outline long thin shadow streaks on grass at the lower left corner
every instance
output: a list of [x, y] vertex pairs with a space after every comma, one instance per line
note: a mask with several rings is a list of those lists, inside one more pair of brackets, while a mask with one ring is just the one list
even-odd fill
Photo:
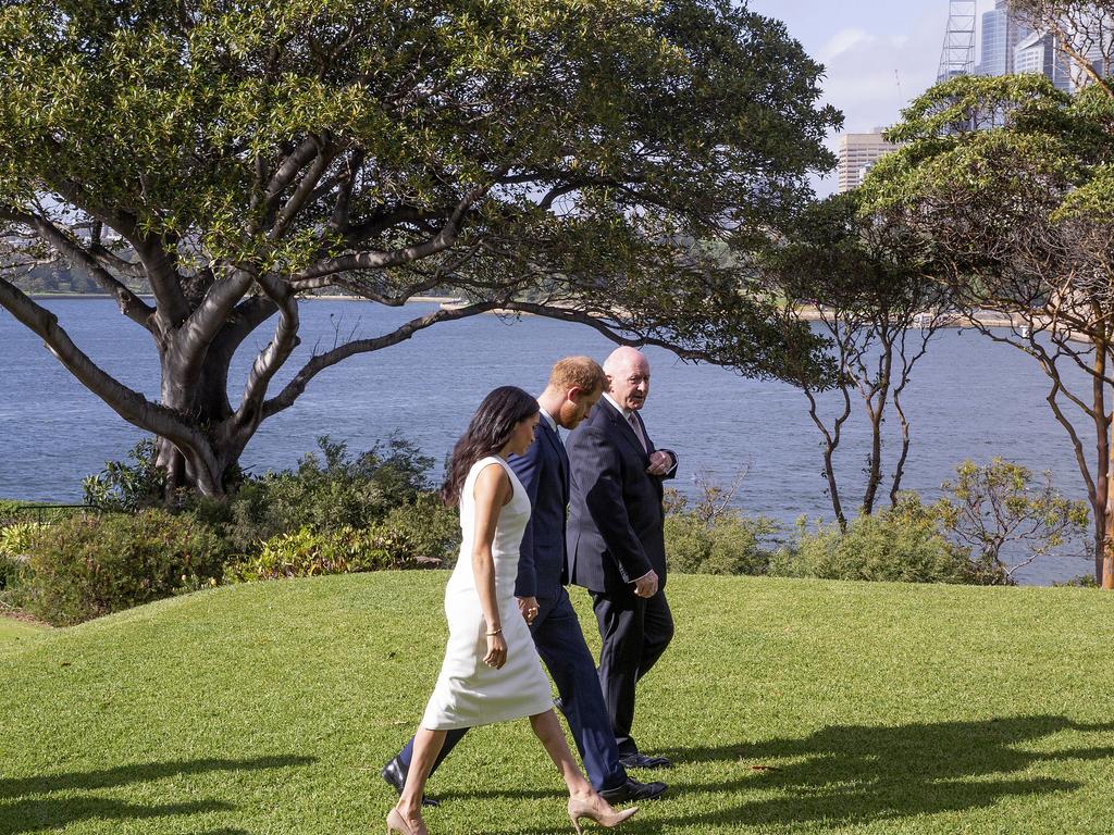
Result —
[[[315, 757], [255, 757], [252, 759], [190, 759], [118, 766], [96, 772], [0, 779], [0, 835], [62, 828], [87, 819], [123, 821], [229, 812], [217, 800], [143, 806], [96, 796], [39, 797], [56, 792], [92, 792], [209, 772], [254, 772], [315, 763]], [[207, 835], [244, 835], [241, 829], [216, 829]]]

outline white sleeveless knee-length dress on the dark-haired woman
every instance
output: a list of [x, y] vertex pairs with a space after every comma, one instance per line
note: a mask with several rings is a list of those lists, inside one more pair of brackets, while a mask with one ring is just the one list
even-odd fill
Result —
[[[483, 664], [487, 655], [487, 622], [480, 608], [472, 573], [472, 540], [476, 499], [472, 490], [480, 471], [501, 466], [514, 489], [509, 503], [499, 512], [491, 553], [495, 558], [495, 589], [507, 641], [507, 664], [495, 669]], [[444, 589], [444, 615], [449, 642], [433, 695], [426, 706], [421, 726], [430, 730], [471, 728], [477, 725], [543, 714], [553, 707], [549, 679], [534, 648], [530, 629], [515, 600], [518, 551], [530, 518], [530, 499], [506, 461], [489, 455], [472, 464], [460, 492], [460, 530], [463, 541], [457, 567]]]

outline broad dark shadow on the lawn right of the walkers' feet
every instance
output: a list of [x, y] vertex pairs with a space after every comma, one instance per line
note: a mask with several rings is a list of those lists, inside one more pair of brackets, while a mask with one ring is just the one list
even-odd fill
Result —
[[[820, 824], [838, 828], [874, 821], [984, 808], [1012, 796], [1074, 792], [1084, 784], [1020, 776], [1046, 762], [1114, 763], [1114, 748], [1026, 750], [1065, 731], [1114, 731], [1111, 725], [1079, 725], [1065, 717], [1022, 716], [987, 721], [912, 724], [895, 727], [832, 726], [803, 738], [654, 752], [678, 766], [707, 764], [706, 782], [671, 780], [671, 794], [746, 792], [753, 798], [684, 816], [633, 821], [629, 832], [670, 825]], [[635, 773], [636, 777], [657, 773]], [[1017, 776], [1012, 776], [1017, 775]], [[665, 779], [670, 779], [668, 773]], [[518, 796], [517, 793], [507, 793]], [[532, 794], [532, 793], [528, 793]], [[667, 814], [668, 796], [661, 800]], [[655, 803], [655, 809], [657, 809]], [[540, 831], [539, 831], [540, 832]]]

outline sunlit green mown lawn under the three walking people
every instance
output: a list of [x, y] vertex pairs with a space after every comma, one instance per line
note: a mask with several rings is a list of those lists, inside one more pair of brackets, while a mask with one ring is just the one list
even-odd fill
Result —
[[[0, 835], [375, 832], [379, 767], [441, 661], [443, 580], [222, 588], [0, 644]], [[670, 595], [636, 733], [677, 766], [624, 832], [1114, 827], [1114, 597], [712, 577]], [[571, 832], [525, 720], [470, 733], [430, 790], [434, 835]]]

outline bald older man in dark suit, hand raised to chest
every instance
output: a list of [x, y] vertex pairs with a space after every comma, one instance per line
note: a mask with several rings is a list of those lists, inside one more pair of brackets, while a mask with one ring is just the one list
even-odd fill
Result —
[[638, 413], [649, 394], [649, 363], [620, 347], [604, 363], [608, 389], [599, 406], [569, 435], [571, 495], [569, 577], [592, 593], [603, 648], [599, 684], [628, 768], [667, 768], [665, 757], [638, 750], [632, 735], [635, 685], [673, 638], [665, 599], [662, 482], [676, 455], [658, 450]]

